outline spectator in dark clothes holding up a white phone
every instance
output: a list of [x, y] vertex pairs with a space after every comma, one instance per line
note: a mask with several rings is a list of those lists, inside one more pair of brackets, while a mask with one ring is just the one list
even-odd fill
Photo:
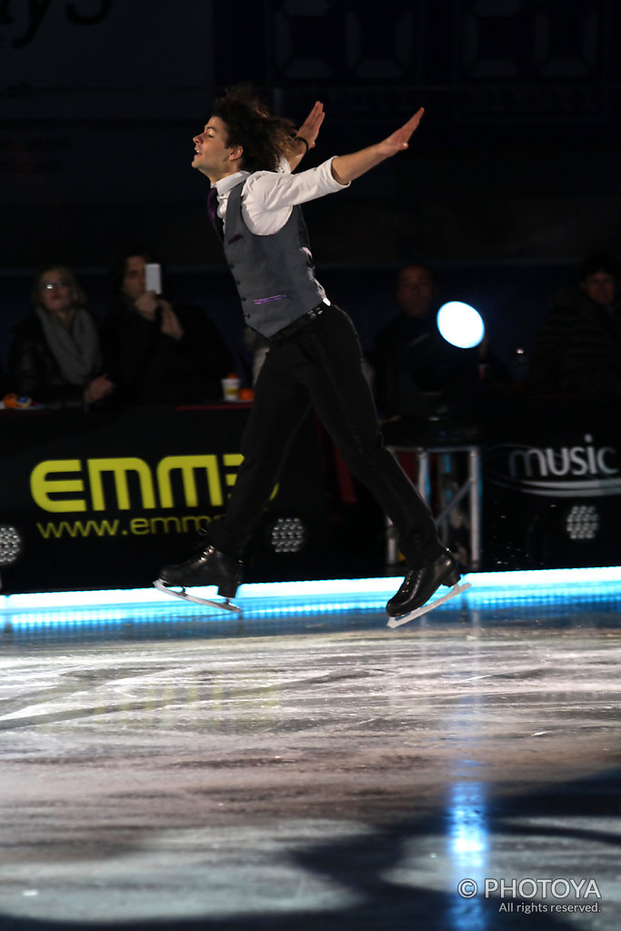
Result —
[[119, 396], [129, 404], [220, 400], [231, 353], [198, 307], [146, 290], [145, 266], [156, 261], [149, 250], [128, 250], [112, 272], [102, 339]]

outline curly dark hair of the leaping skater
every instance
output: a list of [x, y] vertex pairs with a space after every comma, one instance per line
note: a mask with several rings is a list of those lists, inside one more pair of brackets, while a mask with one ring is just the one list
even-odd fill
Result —
[[246, 171], [276, 171], [295, 135], [291, 120], [272, 115], [247, 84], [227, 89], [214, 101], [211, 114], [225, 124], [227, 144], [243, 148], [242, 166]]

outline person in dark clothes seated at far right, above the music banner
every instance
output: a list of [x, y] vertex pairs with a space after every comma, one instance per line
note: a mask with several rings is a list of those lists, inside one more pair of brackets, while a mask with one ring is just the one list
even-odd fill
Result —
[[530, 381], [546, 394], [621, 394], [621, 265], [594, 253], [560, 291], [533, 349]]

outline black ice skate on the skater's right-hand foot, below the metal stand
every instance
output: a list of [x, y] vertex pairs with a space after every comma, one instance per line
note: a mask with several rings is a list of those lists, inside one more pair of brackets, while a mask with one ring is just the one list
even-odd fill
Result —
[[[426, 614], [470, 588], [469, 582], [459, 585], [459, 570], [452, 553], [445, 549], [437, 560], [422, 569], [409, 569], [397, 594], [386, 604], [390, 614], [388, 627], [400, 627], [414, 617]], [[435, 601], [429, 601], [440, 586], [452, 587], [451, 591]]]

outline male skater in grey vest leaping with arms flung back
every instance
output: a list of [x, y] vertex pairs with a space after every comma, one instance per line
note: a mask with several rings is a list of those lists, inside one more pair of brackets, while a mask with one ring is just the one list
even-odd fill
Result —
[[314, 275], [300, 204], [342, 190], [386, 158], [404, 152], [419, 110], [383, 142], [292, 174], [315, 146], [324, 112], [317, 102], [295, 134], [246, 88], [215, 101], [195, 139], [193, 168], [211, 183], [209, 215], [223, 239], [246, 323], [270, 342], [242, 439], [243, 463], [223, 519], [203, 545], [165, 566], [168, 586], [218, 586], [225, 599], [240, 584], [243, 551], [279, 475], [290, 439], [312, 405], [352, 473], [375, 495], [399, 534], [407, 572], [388, 601], [408, 614], [441, 585], [459, 581], [431, 513], [382, 441], [358, 335]]

